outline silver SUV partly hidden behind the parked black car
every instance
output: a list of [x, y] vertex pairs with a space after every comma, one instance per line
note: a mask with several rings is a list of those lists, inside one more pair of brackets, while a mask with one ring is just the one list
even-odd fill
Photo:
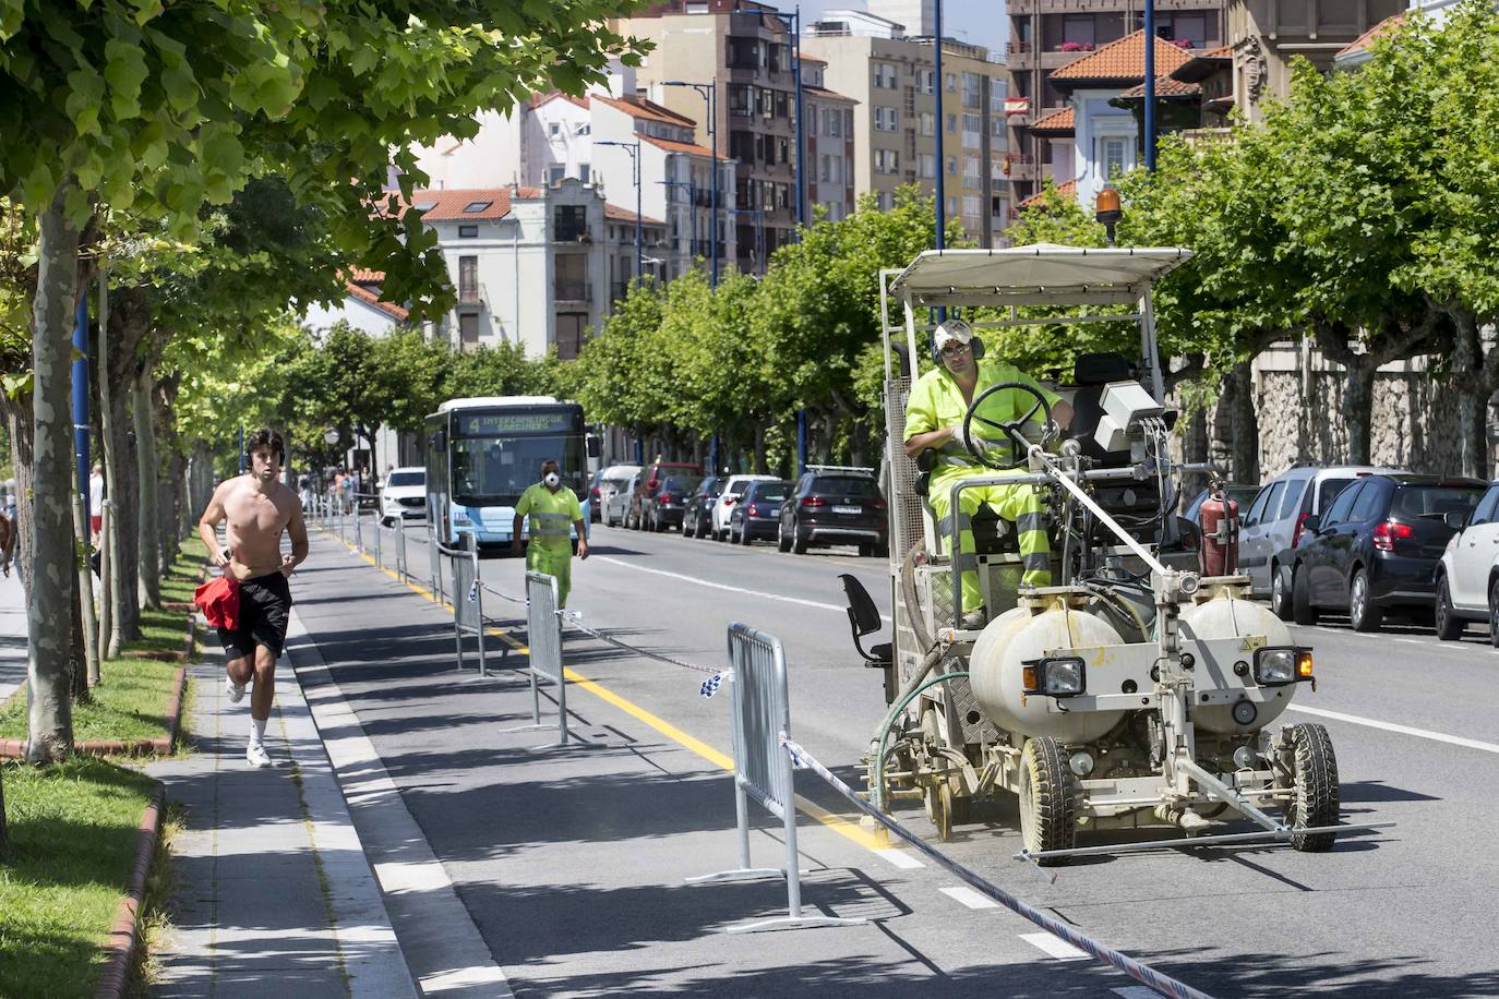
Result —
[[1301, 541], [1307, 517], [1321, 517], [1349, 482], [1384, 472], [1399, 469], [1372, 464], [1288, 469], [1270, 479], [1240, 515], [1240, 572], [1249, 574], [1256, 596], [1270, 596], [1280, 620], [1291, 620], [1291, 553]]

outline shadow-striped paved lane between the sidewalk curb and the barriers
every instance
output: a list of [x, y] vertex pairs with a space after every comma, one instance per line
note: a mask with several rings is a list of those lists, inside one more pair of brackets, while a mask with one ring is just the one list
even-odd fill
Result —
[[[468, 983], [469, 995], [522, 996], [977, 996], [992, 993], [995, 972], [1013, 995], [1132, 986], [1037, 950], [1022, 939], [1034, 927], [1006, 911], [955, 905], [943, 888], [956, 879], [898, 867], [854, 842], [859, 830], [805, 816], [803, 906], [871, 923], [726, 935], [785, 908], [779, 881], [684, 884], [735, 861], [729, 747], [694, 749], [649, 713], [580, 684], [570, 728], [594, 744], [538, 749], [555, 731], [525, 728], [529, 684], [514, 671], [523, 656], [499, 655], [490, 640], [501, 671], [457, 672], [451, 613], [417, 589], [315, 535], [297, 616], [325, 671], [301, 677], [307, 699], [426, 992]], [[576, 653], [628, 659], [570, 640], [565, 658]], [[555, 720], [547, 699], [543, 720]], [[336, 749], [360, 738], [367, 752]], [[409, 836], [378, 828], [391, 812], [409, 815]], [[778, 824], [763, 813], [752, 824], [754, 863], [784, 864]], [[463, 941], [433, 956], [454, 935], [435, 933], [421, 908], [447, 891], [492, 965]]]

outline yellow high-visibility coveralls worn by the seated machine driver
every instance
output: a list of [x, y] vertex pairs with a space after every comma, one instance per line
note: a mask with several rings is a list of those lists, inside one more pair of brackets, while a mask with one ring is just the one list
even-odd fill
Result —
[[[1055, 406], [1061, 398], [1055, 392], [1042, 388], [1036, 379], [1019, 368], [980, 358], [979, 382], [973, 389], [977, 395], [989, 385], [1000, 382], [1024, 382], [1031, 385], [1046, 400], [1048, 406]], [[1036, 404], [1036, 397], [1018, 388], [995, 392], [985, 400], [979, 410], [995, 422], [1012, 422], [1030, 412]], [[929, 433], [941, 427], [962, 425], [968, 412], [968, 403], [962, 398], [962, 389], [946, 367], [938, 367], [916, 380], [911, 395], [905, 401], [905, 439], [920, 433]], [[1039, 413], [1037, 413], [1039, 416]], [[1000, 431], [992, 427], [973, 422], [974, 436], [995, 437]], [[937, 532], [943, 538], [952, 536], [952, 485], [958, 479], [1006, 475], [997, 469], [980, 464], [968, 449], [956, 439], [938, 448], [938, 458], [931, 473], [931, 491], [926, 500], [937, 514]], [[1024, 475], [1024, 469], [1016, 469], [1010, 475]], [[958, 554], [953, 566], [962, 572], [962, 613], [977, 610], [983, 605], [983, 592], [979, 589], [979, 563], [974, 557], [973, 529], [968, 520], [979, 512], [979, 506], [988, 503], [994, 512], [1015, 524], [1019, 536], [1021, 559], [1024, 572], [1021, 583], [1027, 586], [1051, 586], [1051, 542], [1046, 539], [1046, 524], [1042, 520], [1043, 503], [1034, 485], [979, 485], [958, 494]]]

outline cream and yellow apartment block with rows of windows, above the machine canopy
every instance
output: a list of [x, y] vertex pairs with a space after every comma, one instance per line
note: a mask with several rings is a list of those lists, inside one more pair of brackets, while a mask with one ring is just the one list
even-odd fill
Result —
[[872, 192], [889, 207], [901, 184], [935, 192], [940, 169], [947, 217], [961, 219], [979, 246], [994, 246], [1009, 225], [1004, 67], [982, 46], [941, 45], [938, 121], [932, 37], [907, 36], [901, 24], [863, 10], [827, 10], [802, 37], [805, 52], [826, 60], [827, 87], [857, 102], [854, 192]]

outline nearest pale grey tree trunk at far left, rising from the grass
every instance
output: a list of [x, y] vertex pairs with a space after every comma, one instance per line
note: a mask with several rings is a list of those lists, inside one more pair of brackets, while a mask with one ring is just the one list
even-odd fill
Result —
[[31, 460], [34, 533], [27, 589], [30, 693], [27, 759], [51, 762], [73, 749], [67, 696], [72, 616], [58, 614], [72, 601], [73, 532], [69, 509], [72, 419], [69, 388], [73, 309], [78, 301], [78, 228], [67, 217], [64, 183], [37, 219], [36, 298], [31, 306], [31, 413], [36, 422]]

